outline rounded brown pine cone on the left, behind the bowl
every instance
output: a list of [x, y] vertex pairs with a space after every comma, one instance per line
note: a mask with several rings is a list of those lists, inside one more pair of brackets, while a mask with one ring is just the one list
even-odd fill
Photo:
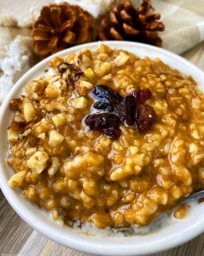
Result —
[[93, 16], [68, 3], [44, 6], [32, 31], [34, 49], [41, 59], [72, 45], [95, 41], [97, 35]]

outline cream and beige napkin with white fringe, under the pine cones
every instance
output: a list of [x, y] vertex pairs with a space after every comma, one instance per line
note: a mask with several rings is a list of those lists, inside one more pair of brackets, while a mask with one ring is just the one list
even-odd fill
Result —
[[[54, 1], [53, 1], [54, 2]], [[62, 0], [55, 0], [56, 3]], [[113, 8], [119, 0], [67, 0], [78, 4], [97, 18]], [[138, 7], [142, 0], [132, 0]], [[47, 4], [50, 1], [47, 0]], [[204, 0], [152, 0], [155, 12], [161, 14], [165, 30], [159, 35], [163, 48], [181, 54], [204, 40]], [[36, 62], [31, 27], [40, 10], [31, 10], [24, 21], [11, 14], [0, 14], [0, 104], [13, 84]], [[20, 24], [20, 25], [19, 25]]]

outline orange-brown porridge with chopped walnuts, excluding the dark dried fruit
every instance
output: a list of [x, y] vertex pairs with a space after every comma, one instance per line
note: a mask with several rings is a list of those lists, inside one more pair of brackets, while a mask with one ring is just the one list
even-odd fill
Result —
[[[70, 226], [78, 218], [98, 228], [148, 225], [204, 186], [204, 95], [192, 77], [104, 44], [50, 65], [55, 75], [29, 82], [27, 96], [10, 103], [10, 186], [54, 220]], [[142, 104], [156, 112], [152, 125], [140, 131], [118, 121], [115, 139], [91, 131], [87, 116], [108, 113], [93, 107], [98, 84], [123, 99], [149, 89]]]

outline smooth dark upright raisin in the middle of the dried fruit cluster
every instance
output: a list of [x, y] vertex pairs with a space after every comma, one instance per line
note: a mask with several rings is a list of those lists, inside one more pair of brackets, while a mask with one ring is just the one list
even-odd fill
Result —
[[117, 108], [117, 112], [122, 122], [126, 121], [128, 125], [133, 125], [135, 123], [136, 114], [136, 104], [134, 96], [126, 96]]

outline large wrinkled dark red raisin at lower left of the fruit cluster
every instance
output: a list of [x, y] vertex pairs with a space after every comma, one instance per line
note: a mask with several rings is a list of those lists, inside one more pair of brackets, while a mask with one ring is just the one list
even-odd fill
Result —
[[106, 134], [112, 140], [118, 139], [121, 134], [121, 131], [118, 129], [120, 119], [114, 114], [92, 114], [87, 116], [84, 122], [92, 131]]

